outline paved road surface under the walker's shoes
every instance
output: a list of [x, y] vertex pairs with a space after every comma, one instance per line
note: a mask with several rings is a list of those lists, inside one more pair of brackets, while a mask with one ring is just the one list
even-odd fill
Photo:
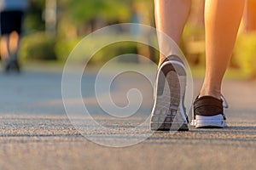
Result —
[[[45, 70], [49, 70], [45, 68]], [[127, 78], [129, 77], [129, 78]], [[113, 86], [113, 101], [127, 104], [119, 94], [136, 85], [145, 98], [135, 116], [116, 118], [104, 114], [93, 98], [94, 72], [84, 75], [82, 94], [92, 116], [104, 132], [86, 124], [90, 140], [122, 144], [143, 140], [124, 148], [95, 144], [81, 135], [67, 118], [61, 100], [61, 71], [29, 69], [20, 76], [0, 74], [0, 169], [255, 169], [256, 83], [226, 80], [224, 94], [230, 101], [229, 127], [190, 128], [185, 133], [154, 133], [143, 126], [125, 133], [150, 114], [152, 88], [147, 80], [120, 77]], [[136, 82], [136, 83], [135, 83]], [[195, 94], [201, 80], [196, 79]], [[78, 100], [73, 99], [73, 105]], [[83, 120], [77, 114], [76, 120]], [[88, 121], [86, 118], [84, 122]], [[82, 121], [83, 122], [83, 121]], [[84, 124], [83, 124], [84, 125]]]

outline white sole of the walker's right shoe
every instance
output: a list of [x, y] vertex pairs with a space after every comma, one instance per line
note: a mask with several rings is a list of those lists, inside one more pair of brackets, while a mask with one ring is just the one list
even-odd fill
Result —
[[195, 116], [196, 128], [224, 128], [226, 121], [222, 115], [217, 116]]

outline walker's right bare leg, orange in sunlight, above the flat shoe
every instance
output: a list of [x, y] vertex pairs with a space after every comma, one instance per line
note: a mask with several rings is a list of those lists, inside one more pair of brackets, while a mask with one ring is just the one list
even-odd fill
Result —
[[236, 42], [245, 0], [206, 0], [207, 70], [201, 96], [220, 99], [224, 73]]

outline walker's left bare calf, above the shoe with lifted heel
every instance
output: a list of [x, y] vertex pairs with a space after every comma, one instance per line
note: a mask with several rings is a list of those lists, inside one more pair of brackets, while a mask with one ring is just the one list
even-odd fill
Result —
[[[191, 0], [154, 0], [154, 12], [156, 28], [163, 31], [173, 41], [179, 45], [184, 25], [189, 16]], [[159, 37], [160, 49], [162, 46], [170, 44], [161, 44]], [[175, 53], [175, 52], [173, 52]], [[160, 54], [160, 63], [165, 56]]]

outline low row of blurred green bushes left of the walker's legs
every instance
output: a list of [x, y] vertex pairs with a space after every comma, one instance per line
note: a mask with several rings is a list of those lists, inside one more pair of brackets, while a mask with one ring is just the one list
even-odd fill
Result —
[[[22, 39], [20, 47], [20, 57], [30, 60], [49, 60], [58, 59], [66, 61], [72, 50], [79, 44], [81, 38], [73, 40], [59, 39], [55, 40], [47, 37], [44, 32], [34, 33]], [[95, 38], [90, 44], [82, 49], [81, 55], [76, 56], [74, 60], [77, 62], [88, 61], [89, 56], [86, 51], [98, 43], [102, 42], [102, 38]], [[136, 42], [116, 42], [96, 51], [96, 54], [90, 59], [90, 65], [102, 65], [109, 59], [113, 59], [121, 54], [137, 54]], [[137, 62], [137, 58], [125, 59], [126, 62]]]

